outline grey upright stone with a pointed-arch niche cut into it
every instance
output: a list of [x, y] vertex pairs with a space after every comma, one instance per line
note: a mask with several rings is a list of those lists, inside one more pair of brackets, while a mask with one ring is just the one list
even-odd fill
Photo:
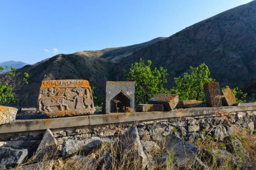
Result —
[[104, 114], [134, 110], [135, 81], [107, 81], [104, 97]]

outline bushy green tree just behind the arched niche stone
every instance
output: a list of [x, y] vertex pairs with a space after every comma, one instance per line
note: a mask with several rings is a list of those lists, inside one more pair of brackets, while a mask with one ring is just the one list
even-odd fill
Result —
[[168, 77], [167, 69], [160, 67], [151, 69], [152, 61], [146, 63], [140, 58], [139, 62], [134, 62], [128, 73], [125, 74], [127, 81], [135, 81], [135, 104], [147, 103], [150, 97], [159, 93], [169, 93], [164, 88]]

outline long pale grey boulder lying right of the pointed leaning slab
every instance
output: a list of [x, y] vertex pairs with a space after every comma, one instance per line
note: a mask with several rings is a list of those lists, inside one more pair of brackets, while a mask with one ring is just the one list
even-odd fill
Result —
[[88, 155], [102, 145], [102, 140], [99, 137], [92, 137], [86, 140], [65, 140], [62, 144], [61, 156], [67, 159], [76, 153]]

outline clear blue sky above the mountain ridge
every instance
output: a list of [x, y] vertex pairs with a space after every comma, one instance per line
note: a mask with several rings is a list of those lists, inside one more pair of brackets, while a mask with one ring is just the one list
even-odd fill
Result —
[[251, 0], [0, 0], [0, 62], [171, 36]]

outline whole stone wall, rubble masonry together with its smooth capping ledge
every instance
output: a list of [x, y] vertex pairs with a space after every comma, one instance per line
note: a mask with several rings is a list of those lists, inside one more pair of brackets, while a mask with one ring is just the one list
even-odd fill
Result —
[[[254, 107], [254, 106], [253, 106]], [[228, 112], [232, 111], [232, 112]], [[214, 136], [216, 140], [222, 141], [225, 136], [230, 136], [234, 126], [239, 126], [241, 128], [247, 128], [251, 133], [256, 127], [256, 109], [247, 106], [246, 108], [239, 107], [226, 107], [222, 109], [216, 108], [193, 108], [187, 110], [179, 110], [172, 112], [149, 112], [149, 113], [134, 113], [134, 114], [114, 114], [114, 115], [95, 115], [94, 125], [89, 124], [92, 120], [88, 120], [87, 126], [77, 122], [80, 126], [76, 126], [75, 121], [79, 117], [66, 118], [70, 126], [65, 127], [67, 122], [62, 121], [63, 128], [59, 128], [54, 122], [59, 119], [65, 118], [55, 118], [44, 121], [45, 128], [50, 128], [55, 136], [59, 147], [64, 140], [75, 139], [84, 140], [87, 138], [92, 138], [98, 136], [104, 140], [113, 140], [120, 134], [123, 134], [127, 128], [130, 126], [137, 126], [139, 132], [139, 138], [143, 140], [152, 140], [154, 142], [160, 142], [164, 140], [165, 136], [168, 134], [174, 134], [180, 138], [184, 138], [187, 141], [195, 141], [197, 138], [203, 138], [205, 134], [210, 134]], [[191, 113], [191, 114], [189, 114]], [[137, 120], [138, 115], [143, 115], [144, 120]], [[151, 116], [151, 119], [146, 120], [146, 115]], [[154, 120], [152, 115], [156, 115], [157, 118]], [[163, 116], [165, 115], [165, 116]], [[123, 117], [122, 117], [123, 116]], [[101, 120], [100, 120], [101, 118]], [[123, 118], [123, 119], [122, 119]], [[72, 119], [74, 119], [72, 121]], [[127, 121], [124, 121], [127, 120]], [[68, 121], [69, 120], [69, 121]], [[97, 122], [97, 121], [98, 122]], [[102, 121], [105, 124], [102, 124]], [[115, 121], [114, 121], [115, 120]], [[132, 121], [133, 120], [133, 121]], [[6, 125], [6, 127], [0, 127], [0, 146], [10, 146], [12, 148], [28, 148], [29, 155], [32, 155], [36, 150], [40, 140], [45, 132], [44, 129], [39, 129], [41, 123], [39, 120], [20, 120], [13, 122], [13, 128], [11, 124]], [[61, 121], [61, 120], [59, 120]], [[81, 122], [87, 122], [86, 118], [82, 119]], [[26, 122], [26, 129], [23, 132], [13, 132], [11, 130], [18, 129], [22, 131], [21, 122]], [[29, 123], [30, 122], [30, 123]], [[33, 122], [33, 124], [31, 123]], [[34, 124], [34, 122], [36, 122]], [[116, 122], [116, 123], [110, 123]], [[29, 125], [30, 124], [30, 125]], [[50, 125], [52, 128], [50, 127]], [[53, 124], [55, 126], [53, 126]], [[87, 123], [86, 123], [87, 124]], [[16, 127], [17, 126], [17, 127]], [[32, 130], [34, 128], [34, 130]], [[5, 130], [5, 132], [3, 132]]]

